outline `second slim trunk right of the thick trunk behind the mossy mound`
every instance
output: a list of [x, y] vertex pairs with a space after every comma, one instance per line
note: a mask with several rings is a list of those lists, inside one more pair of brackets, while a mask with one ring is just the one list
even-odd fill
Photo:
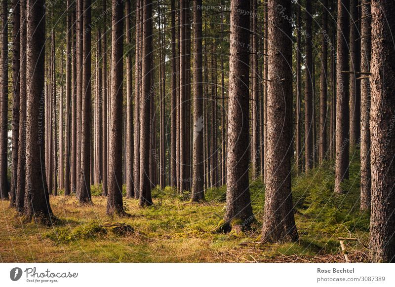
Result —
[[142, 23], [140, 15], [143, 13], [142, 1], [136, 1], [136, 55], [134, 81], [134, 198], [140, 197], [140, 86], [141, 86], [141, 54], [140, 33]]

